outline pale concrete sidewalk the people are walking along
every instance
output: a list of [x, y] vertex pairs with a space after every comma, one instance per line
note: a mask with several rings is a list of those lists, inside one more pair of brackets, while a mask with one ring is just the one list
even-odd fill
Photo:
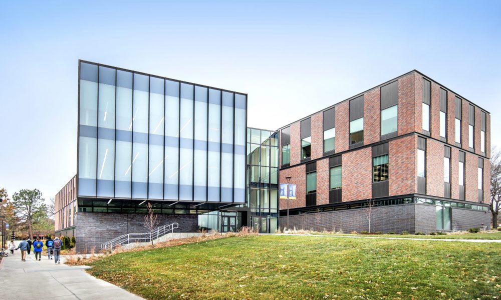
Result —
[[[9, 252], [10, 253], [10, 252]], [[87, 266], [55, 264], [47, 256], [35, 260], [32, 252], [21, 261], [21, 252], [2, 259], [0, 299], [143, 299], [125, 289], [89, 275]]]

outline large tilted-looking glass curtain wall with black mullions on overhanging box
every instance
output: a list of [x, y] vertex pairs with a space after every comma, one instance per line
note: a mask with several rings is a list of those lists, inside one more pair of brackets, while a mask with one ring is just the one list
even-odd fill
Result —
[[79, 68], [78, 195], [245, 203], [244, 94]]

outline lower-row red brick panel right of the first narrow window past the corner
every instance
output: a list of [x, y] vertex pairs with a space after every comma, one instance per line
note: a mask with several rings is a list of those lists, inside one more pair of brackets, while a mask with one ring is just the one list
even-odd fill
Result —
[[443, 197], [443, 144], [426, 142], [426, 194]]

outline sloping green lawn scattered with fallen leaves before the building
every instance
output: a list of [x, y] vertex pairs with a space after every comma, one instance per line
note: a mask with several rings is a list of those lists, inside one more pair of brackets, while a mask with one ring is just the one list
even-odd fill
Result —
[[111, 255], [88, 271], [148, 299], [492, 298], [501, 245], [261, 235]]

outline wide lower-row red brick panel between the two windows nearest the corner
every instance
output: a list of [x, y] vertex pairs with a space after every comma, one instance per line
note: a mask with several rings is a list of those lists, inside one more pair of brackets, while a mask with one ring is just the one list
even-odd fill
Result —
[[368, 199], [372, 196], [372, 149], [347, 152], [341, 158], [342, 200]]

